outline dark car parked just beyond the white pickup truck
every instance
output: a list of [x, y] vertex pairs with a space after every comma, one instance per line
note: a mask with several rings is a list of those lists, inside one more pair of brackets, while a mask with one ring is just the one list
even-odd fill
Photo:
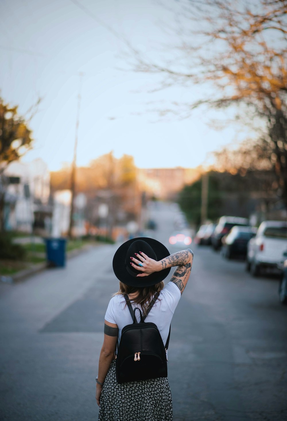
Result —
[[251, 226], [233, 226], [229, 234], [222, 238], [222, 256], [228, 259], [235, 256], [245, 257], [248, 241], [255, 236], [256, 232], [257, 229]]

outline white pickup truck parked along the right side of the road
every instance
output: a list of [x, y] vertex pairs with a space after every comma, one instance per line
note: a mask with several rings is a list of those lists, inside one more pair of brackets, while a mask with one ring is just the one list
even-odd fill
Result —
[[264, 221], [248, 242], [246, 269], [253, 276], [258, 276], [264, 267], [277, 269], [286, 259], [286, 253], [287, 222]]

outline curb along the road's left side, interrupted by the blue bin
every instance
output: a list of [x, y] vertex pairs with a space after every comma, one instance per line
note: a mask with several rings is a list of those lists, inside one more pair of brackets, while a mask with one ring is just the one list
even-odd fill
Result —
[[[85, 251], [90, 250], [91, 248], [99, 247], [100, 245], [103, 246], [105, 244], [87, 244], [87, 245], [84, 245], [82, 248], [76, 248], [74, 250], [71, 250], [67, 252], [66, 259], [69, 260], [73, 257], [78, 256], [79, 254], [84, 253]], [[8, 283], [8, 284], [20, 282], [20, 281], [25, 280], [28, 277], [33, 276], [36, 273], [42, 272], [45, 269], [48, 269], [47, 262], [37, 263], [27, 269], [23, 269], [17, 272], [16, 274], [12, 276], [5, 276], [5, 277], [3, 276], [2, 281], [3, 283]], [[1, 280], [1, 277], [0, 277], [0, 280]]]

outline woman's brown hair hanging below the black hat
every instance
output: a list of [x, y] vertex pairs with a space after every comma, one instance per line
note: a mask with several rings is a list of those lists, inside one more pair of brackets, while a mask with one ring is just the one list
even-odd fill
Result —
[[135, 304], [140, 304], [140, 306], [142, 307], [143, 314], [145, 314], [153, 296], [155, 295], [155, 293], [161, 292], [163, 287], [164, 287], [163, 281], [158, 282], [158, 284], [151, 285], [149, 287], [144, 287], [144, 288], [131, 287], [120, 281], [120, 289], [118, 290], [118, 292], [113, 294], [113, 297], [116, 295], [133, 294], [137, 292], [138, 293], [137, 297], [133, 298], [132, 301]]

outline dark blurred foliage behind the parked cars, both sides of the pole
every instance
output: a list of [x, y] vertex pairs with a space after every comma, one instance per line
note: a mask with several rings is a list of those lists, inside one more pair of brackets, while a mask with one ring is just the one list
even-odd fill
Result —
[[[270, 168], [245, 169], [233, 173], [210, 171], [207, 175], [207, 218], [214, 222], [222, 215], [249, 217], [262, 205], [266, 211], [272, 211], [278, 200], [274, 186], [276, 181]], [[200, 224], [201, 179], [182, 189], [179, 205], [191, 223]]]

